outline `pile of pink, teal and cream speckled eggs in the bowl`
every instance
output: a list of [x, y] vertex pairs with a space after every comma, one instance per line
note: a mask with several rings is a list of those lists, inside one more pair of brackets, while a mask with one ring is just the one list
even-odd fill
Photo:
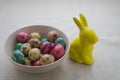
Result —
[[28, 66], [46, 65], [60, 59], [65, 54], [65, 47], [66, 43], [57, 31], [50, 31], [44, 37], [37, 32], [19, 32], [12, 59]]

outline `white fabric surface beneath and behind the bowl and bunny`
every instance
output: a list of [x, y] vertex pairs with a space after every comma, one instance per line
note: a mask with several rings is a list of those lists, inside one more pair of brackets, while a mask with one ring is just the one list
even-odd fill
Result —
[[[63, 30], [71, 41], [79, 31], [72, 21], [82, 12], [99, 36], [93, 65], [66, 57], [63, 64], [44, 74], [18, 71], [4, 51], [7, 37], [33, 24]], [[0, 0], [0, 80], [120, 80], [120, 0]]]

